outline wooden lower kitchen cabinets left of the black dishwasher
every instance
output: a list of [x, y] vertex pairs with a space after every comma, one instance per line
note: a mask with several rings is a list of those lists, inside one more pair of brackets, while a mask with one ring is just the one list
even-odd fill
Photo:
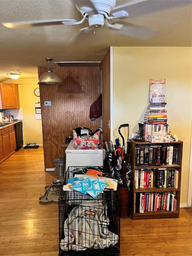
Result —
[[1, 129], [0, 138], [0, 162], [4, 161], [10, 155], [15, 152], [16, 149], [16, 137], [15, 128], [13, 125]]

